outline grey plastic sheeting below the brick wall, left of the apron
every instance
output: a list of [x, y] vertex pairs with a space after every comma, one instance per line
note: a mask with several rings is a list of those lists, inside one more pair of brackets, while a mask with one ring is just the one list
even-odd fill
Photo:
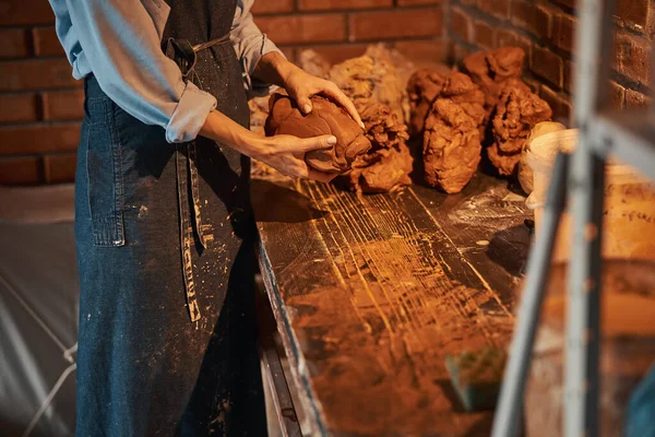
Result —
[[0, 191], [3, 436], [74, 434], [80, 287], [71, 200], [72, 187]]

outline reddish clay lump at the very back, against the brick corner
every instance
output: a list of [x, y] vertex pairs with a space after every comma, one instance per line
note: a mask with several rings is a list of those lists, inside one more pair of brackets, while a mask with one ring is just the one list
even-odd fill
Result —
[[519, 47], [502, 47], [478, 51], [464, 58], [464, 70], [471, 75], [483, 93], [485, 107], [491, 111], [504, 83], [523, 75], [525, 51]]

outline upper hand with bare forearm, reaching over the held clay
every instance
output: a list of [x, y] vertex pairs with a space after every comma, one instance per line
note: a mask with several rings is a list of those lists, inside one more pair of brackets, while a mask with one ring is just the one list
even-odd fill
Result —
[[365, 129], [355, 105], [334, 82], [309, 74], [275, 51], [266, 54], [260, 59], [253, 75], [285, 88], [303, 114], [311, 113], [312, 96], [321, 94], [330, 97], [346, 109], [350, 117], [361, 126], [361, 129]]

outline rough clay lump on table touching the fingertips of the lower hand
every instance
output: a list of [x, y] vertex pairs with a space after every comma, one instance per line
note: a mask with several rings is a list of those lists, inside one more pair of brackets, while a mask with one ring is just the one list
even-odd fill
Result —
[[389, 106], [372, 103], [359, 113], [371, 149], [355, 160], [353, 172], [337, 178], [337, 185], [357, 192], [388, 192], [412, 184], [413, 167], [407, 127]]

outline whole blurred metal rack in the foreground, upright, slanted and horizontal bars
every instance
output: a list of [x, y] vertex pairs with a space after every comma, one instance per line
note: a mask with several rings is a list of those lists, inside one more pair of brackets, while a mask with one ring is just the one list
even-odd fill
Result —
[[[614, 0], [579, 0], [574, 116], [579, 144], [556, 160], [544, 227], [528, 261], [517, 328], [493, 423], [493, 437], [517, 434], [555, 236], [567, 196], [573, 215], [569, 263], [563, 435], [597, 436], [600, 353], [600, 236], [605, 160], [609, 153], [655, 179], [655, 115], [607, 107]], [[655, 62], [653, 62], [655, 63]], [[570, 161], [570, 163], [569, 163]]]

